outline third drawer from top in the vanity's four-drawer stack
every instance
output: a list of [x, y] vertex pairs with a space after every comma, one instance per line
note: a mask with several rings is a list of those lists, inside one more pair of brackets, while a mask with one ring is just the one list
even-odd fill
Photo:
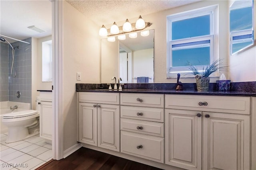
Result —
[[123, 118], [120, 121], [121, 130], [164, 137], [164, 123]]

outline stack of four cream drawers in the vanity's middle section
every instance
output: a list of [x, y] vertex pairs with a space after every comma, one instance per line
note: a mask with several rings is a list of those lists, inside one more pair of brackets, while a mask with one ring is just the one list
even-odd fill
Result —
[[164, 95], [120, 94], [120, 152], [164, 163]]

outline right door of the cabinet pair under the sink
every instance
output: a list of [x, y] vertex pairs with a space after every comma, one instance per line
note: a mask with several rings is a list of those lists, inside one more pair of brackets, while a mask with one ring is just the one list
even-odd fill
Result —
[[98, 147], [120, 152], [120, 106], [98, 104]]

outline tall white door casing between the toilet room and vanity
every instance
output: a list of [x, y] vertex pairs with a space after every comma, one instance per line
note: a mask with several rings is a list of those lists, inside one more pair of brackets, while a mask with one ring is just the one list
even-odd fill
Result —
[[62, 97], [62, 1], [52, 0], [52, 107], [54, 110], [53, 136], [52, 136], [52, 158], [60, 160], [63, 158], [63, 97]]

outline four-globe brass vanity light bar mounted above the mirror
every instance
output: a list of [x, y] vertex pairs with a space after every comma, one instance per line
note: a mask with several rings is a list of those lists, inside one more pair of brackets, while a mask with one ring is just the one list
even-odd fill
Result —
[[[150, 27], [152, 23], [145, 22], [141, 16], [139, 16], [139, 19], [136, 21], [136, 23], [130, 23], [128, 19], [124, 22], [123, 26], [118, 27], [116, 25], [116, 22], [113, 23], [113, 25], [110, 27], [110, 29], [106, 29], [104, 25], [100, 28], [99, 35], [102, 37], [110, 37], [115, 35], [122, 35], [125, 33], [132, 33], [135, 31], [142, 31], [146, 27]], [[106, 34], [107, 32], [107, 34]]]

